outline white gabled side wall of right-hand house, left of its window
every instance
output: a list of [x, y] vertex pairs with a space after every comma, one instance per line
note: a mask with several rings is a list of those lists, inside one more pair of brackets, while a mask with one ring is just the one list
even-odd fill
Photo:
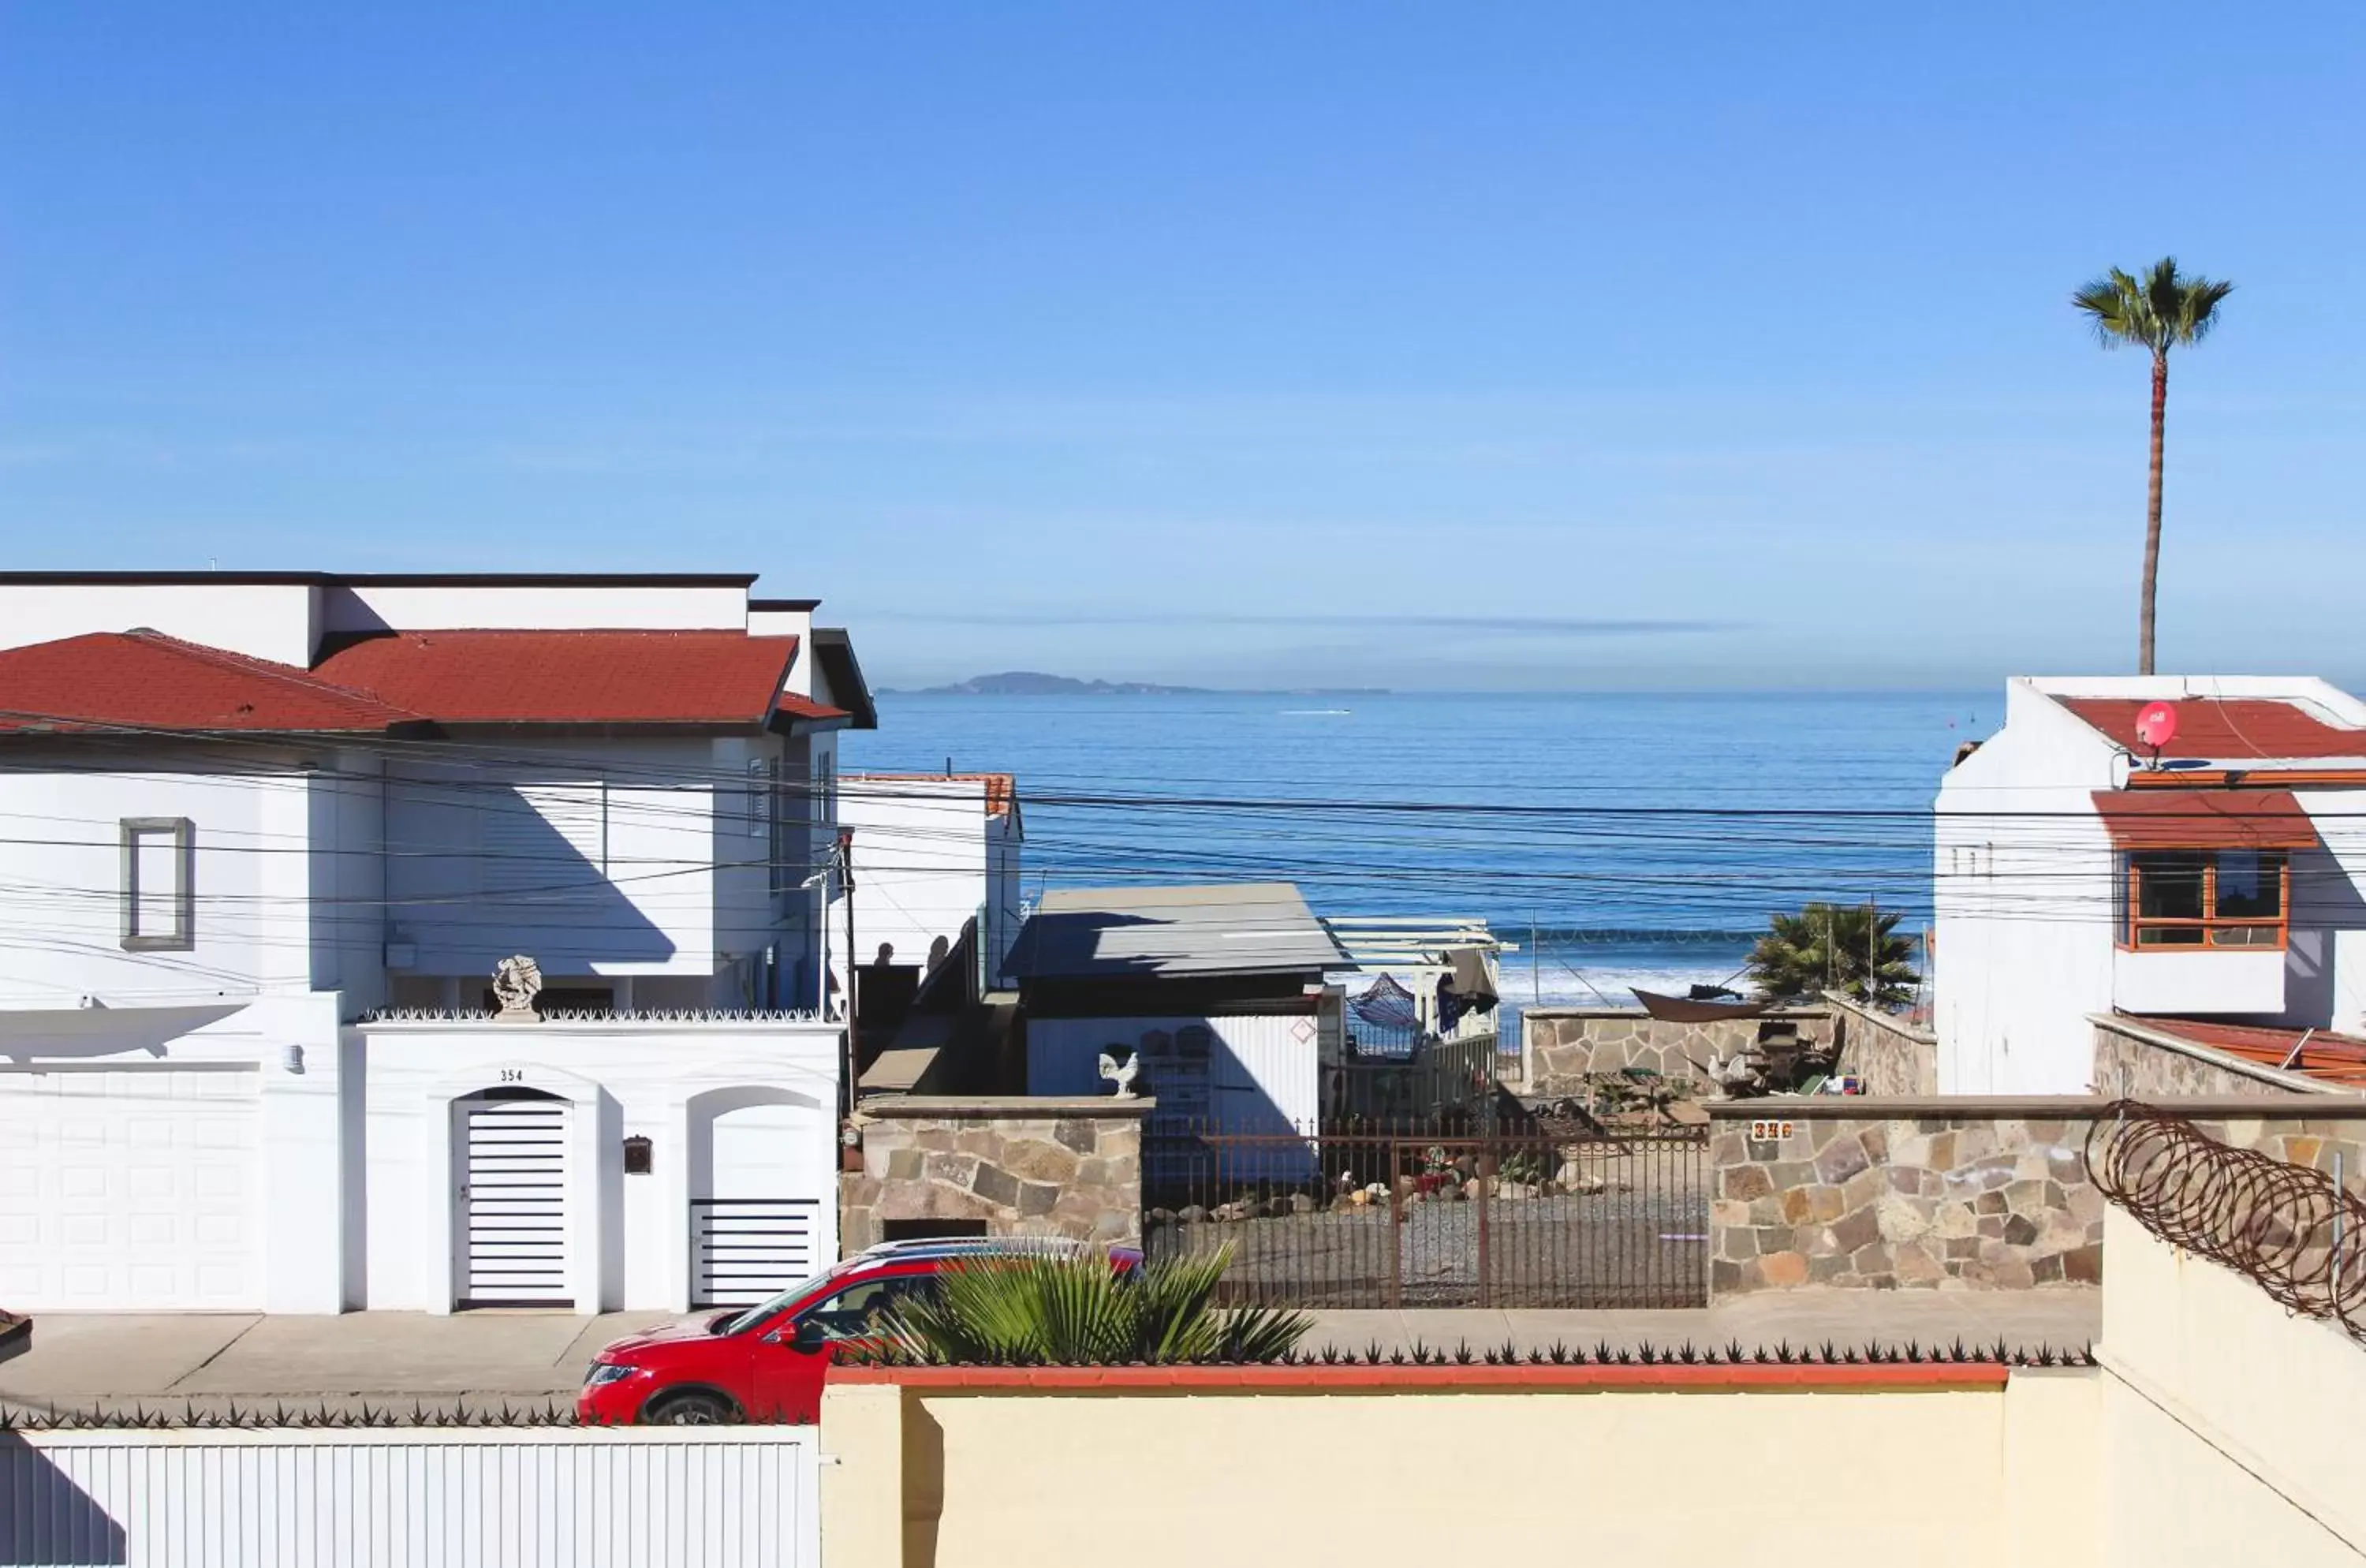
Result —
[[2075, 1095], [2110, 1010], [2113, 851], [2094, 790], [2115, 752], [2035, 691], [1935, 804], [1933, 1029], [1945, 1095]]

